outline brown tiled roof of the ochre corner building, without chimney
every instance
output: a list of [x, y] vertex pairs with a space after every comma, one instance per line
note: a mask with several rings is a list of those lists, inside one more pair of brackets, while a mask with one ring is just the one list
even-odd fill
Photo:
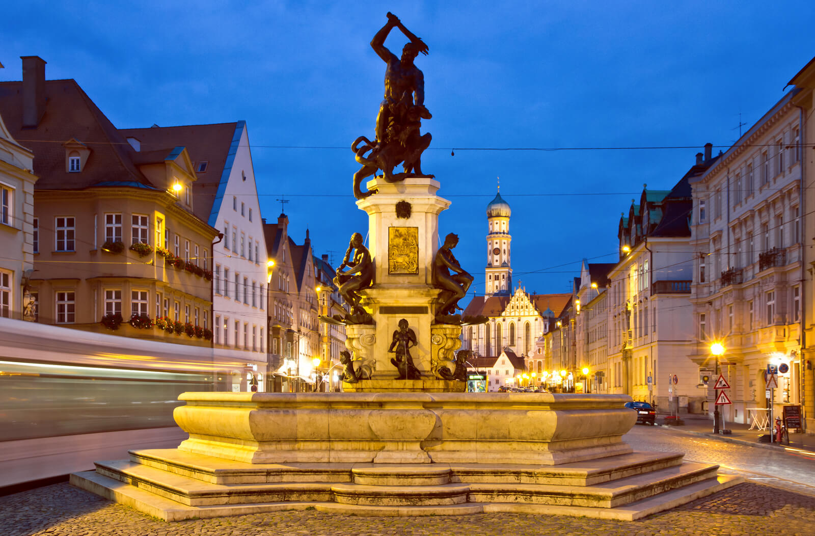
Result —
[[[34, 128], [22, 128], [22, 90], [22, 81], [0, 82], [0, 115], [17, 142], [34, 153], [36, 190], [76, 190], [120, 182], [153, 186], [136, 166], [133, 147], [76, 81], [45, 81], [46, 108]], [[64, 143], [72, 139], [90, 150], [81, 173], [66, 169]]]

